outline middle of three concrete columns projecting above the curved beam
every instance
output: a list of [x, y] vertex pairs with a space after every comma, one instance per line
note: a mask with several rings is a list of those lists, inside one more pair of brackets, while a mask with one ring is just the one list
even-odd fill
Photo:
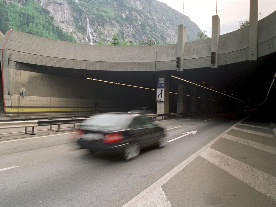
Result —
[[[210, 66], [211, 68], [218, 67], [218, 40], [219, 36], [221, 35], [221, 27], [220, 27], [220, 20], [218, 15], [212, 16], [212, 42], [211, 42], [211, 52], [216, 53], [216, 63], [213, 65], [211, 64], [210, 58]], [[211, 56], [211, 54], [210, 54]]]

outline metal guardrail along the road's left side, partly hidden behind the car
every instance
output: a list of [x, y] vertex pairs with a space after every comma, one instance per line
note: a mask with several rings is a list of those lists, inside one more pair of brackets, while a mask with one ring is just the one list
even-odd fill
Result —
[[[183, 115], [184, 113], [170, 113], [170, 114], [140, 114], [140, 116], [147, 116], [147, 117], [160, 117], [162, 119], [167, 116], [179, 116]], [[49, 131], [52, 130], [53, 125], [57, 125], [57, 132], [60, 132], [60, 125], [61, 124], [74, 124], [73, 128], [76, 127], [76, 123], [81, 123], [84, 120], [90, 117], [85, 118], [66, 118], [66, 119], [45, 119], [45, 120], [24, 120], [24, 121], [5, 121], [0, 122], [0, 129], [9, 129], [9, 128], [23, 128], [25, 127], [24, 134], [28, 134], [28, 127], [32, 127], [31, 135], [34, 135], [34, 127], [38, 126], [50, 126]]]

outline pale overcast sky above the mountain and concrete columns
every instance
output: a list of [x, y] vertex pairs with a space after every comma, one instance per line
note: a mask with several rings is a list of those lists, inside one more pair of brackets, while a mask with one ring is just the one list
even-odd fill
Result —
[[[208, 37], [212, 37], [212, 16], [218, 15], [221, 34], [237, 30], [239, 21], [249, 20], [250, 0], [158, 0], [188, 16]], [[276, 10], [276, 0], [258, 0], [258, 20]], [[185, 25], [185, 24], [184, 24]]]

